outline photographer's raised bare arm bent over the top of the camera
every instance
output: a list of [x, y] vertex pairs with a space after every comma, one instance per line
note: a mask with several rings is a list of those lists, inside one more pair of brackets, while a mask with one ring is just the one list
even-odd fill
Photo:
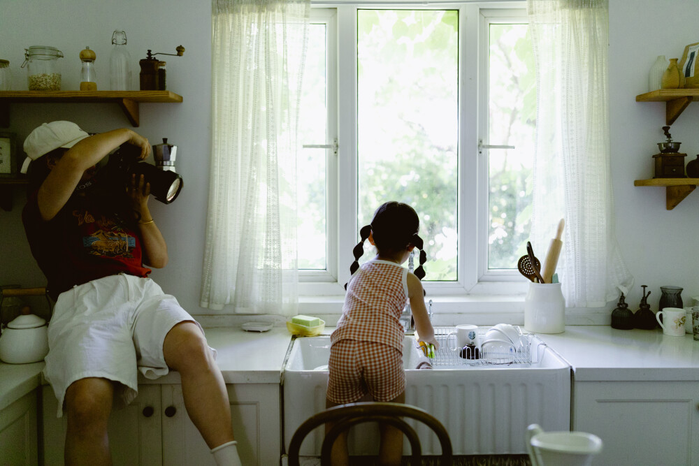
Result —
[[145, 159], [150, 154], [148, 140], [127, 128], [89, 136], [67, 150], [52, 166], [38, 189], [37, 201], [41, 217], [46, 221], [55, 217], [68, 202], [85, 170], [123, 143], [140, 147], [140, 159]]

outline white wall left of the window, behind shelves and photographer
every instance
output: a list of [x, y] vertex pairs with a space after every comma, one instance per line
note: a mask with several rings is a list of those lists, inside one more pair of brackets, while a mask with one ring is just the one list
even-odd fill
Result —
[[[80, 50], [89, 45], [97, 55], [97, 89], [108, 90], [111, 38], [117, 28], [127, 32], [134, 90], [138, 90], [138, 60], [148, 49], [175, 53], [180, 44], [186, 49], [183, 57], [158, 55], [167, 62], [168, 90], [184, 101], [141, 104], [140, 126], [134, 130], [152, 144], [168, 138], [178, 145], [178, 171], [185, 182], [175, 203], [150, 202], [170, 252], [168, 266], [151, 276], [190, 312], [206, 312], [199, 307], [199, 287], [210, 166], [211, 1], [0, 0], [0, 57], [10, 61], [13, 90], [26, 90], [26, 68], [20, 69], [24, 49], [51, 45], [65, 56], [59, 59], [62, 89], [77, 90]], [[10, 106], [10, 127], [0, 131], [17, 133], [23, 160], [27, 134], [55, 119], [72, 120], [89, 132], [131, 127], [115, 103], [17, 103]], [[15, 189], [13, 210], [0, 211], [0, 284], [44, 286], [20, 220], [25, 199], [24, 189]]]

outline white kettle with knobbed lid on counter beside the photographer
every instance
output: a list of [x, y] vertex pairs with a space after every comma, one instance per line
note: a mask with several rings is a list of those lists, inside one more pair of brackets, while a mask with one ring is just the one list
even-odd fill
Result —
[[29, 306], [0, 335], [0, 360], [9, 364], [41, 361], [48, 354], [48, 325]]

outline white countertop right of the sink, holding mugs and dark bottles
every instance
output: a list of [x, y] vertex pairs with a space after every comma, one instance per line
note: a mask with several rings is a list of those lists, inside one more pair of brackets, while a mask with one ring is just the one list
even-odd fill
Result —
[[699, 381], [699, 342], [689, 333], [566, 326], [537, 335], [570, 363], [575, 381]]

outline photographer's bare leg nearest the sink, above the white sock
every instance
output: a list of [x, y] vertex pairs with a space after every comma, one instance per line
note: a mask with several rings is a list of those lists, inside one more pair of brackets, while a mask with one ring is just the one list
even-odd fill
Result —
[[209, 448], [233, 441], [226, 384], [199, 326], [191, 321], [174, 326], [163, 354], [168, 367], [180, 372], [187, 414]]

